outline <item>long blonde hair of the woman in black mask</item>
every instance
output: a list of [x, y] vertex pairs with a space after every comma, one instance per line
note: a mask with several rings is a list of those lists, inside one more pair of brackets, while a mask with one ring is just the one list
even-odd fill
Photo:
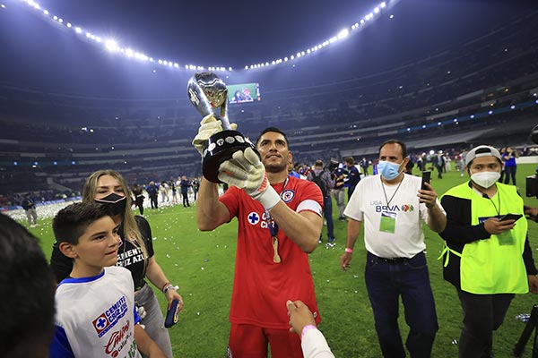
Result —
[[[99, 181], [99, 178], [103, 175], [110, 175], [116, 178], [117, 182], [121, 185], [124, 193], [126, 194], [126, 209], [123, 213], [121, 213], [123, 236], [125, 240], [129, 240], [129, 242], [133, 243], [134, 246], [140, 247], [143, 252], [143, 257], [147, 259], [148, 255], [145, 243], [143, 241], [142, 234], [140, 234], [140, 230], [138, 229], [138, 225], [136, 225], [136, 219], [134, 218], [133, 210], [131, 210], [131, 205], [133, 201], [131, 199], [131, 191], [129, 190], [129, 187], [127, 186], [126, 180], [123, 176], [117, 173], [116, 170], [112, 169], [98, 170], [97, 172], [94, 172], [88, 177], [88, 179], [86, 179], [84, 189], [82, 190], [82, 202], [95, 201], [97, 182]], [[150, 237], [148, 239], [151, 240], [152, 238]], [[144, 260], [144, 265], [145, 261], [146, 260]]]

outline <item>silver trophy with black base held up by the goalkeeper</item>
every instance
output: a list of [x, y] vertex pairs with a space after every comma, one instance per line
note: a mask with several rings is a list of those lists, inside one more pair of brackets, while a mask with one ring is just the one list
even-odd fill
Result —
[[[222, 123], [222, 132], [209, 138], [202, 154], [204, 177], [210, 182], [221, 183], [218, 177], [221, 163], [229, 160], [236, 151], [248, 147], [257, 153], [256, 147], [241, 132], [231, 130], [228, 120], [228, 89], [215, 73], [196, 72], [188, 81], [187, 95], [201, 115], [213, 113]], [[213, 112], [213, 109], [217, 109], [217, 112]]]

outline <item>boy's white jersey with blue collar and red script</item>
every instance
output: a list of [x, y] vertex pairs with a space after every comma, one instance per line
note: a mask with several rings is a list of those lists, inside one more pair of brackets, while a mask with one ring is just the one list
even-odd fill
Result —
[[134, 285], [126, 268], [95, 277], [66, 278], [56, 290], [51, 357], [140, 357], [134, 325]]

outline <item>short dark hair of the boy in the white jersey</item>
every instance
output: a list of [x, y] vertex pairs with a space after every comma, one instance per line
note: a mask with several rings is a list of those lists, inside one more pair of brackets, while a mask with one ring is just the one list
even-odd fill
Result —
[[110, 208], [96, 202], [77, 202], [61, 209], [52, 220], [56, 242], [76, 245], [91, 223], [107, 216], [112, 217]]

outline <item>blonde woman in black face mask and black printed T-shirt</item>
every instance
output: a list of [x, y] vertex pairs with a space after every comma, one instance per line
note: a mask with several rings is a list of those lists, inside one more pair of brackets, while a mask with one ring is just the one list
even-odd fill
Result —
[[[96, 201], [108, 205], [117, 224], [121, 223], [119, 235], [122, 245], [117, 252], [117, 266], [131, 271], [134, 281], [134, 301], [137, 307], [143, 307], [145, 316], [142, 324], [148, 336], [159, 345], [169, 357], [172, 348], [168, 330], [164, 328], [164, 318], [159, 302], [150, 282], [161, 289], [170, 304], [179, 300], [179, 309], [183, 307], [183, 299], [164, 274], [153, 256], [152, 229], [144, 217], [135, 216], [131, 210], [131, 193], [123, 176], [115, 170], [99, 170], [86, 180], [82, 192], [82, 201]], [[57, 282], [68, 277], [73, 267], [71, 259], [65, 257], [54, 245], [50, 260]], [[142, 315], [143, 316], [143, 315]]]

